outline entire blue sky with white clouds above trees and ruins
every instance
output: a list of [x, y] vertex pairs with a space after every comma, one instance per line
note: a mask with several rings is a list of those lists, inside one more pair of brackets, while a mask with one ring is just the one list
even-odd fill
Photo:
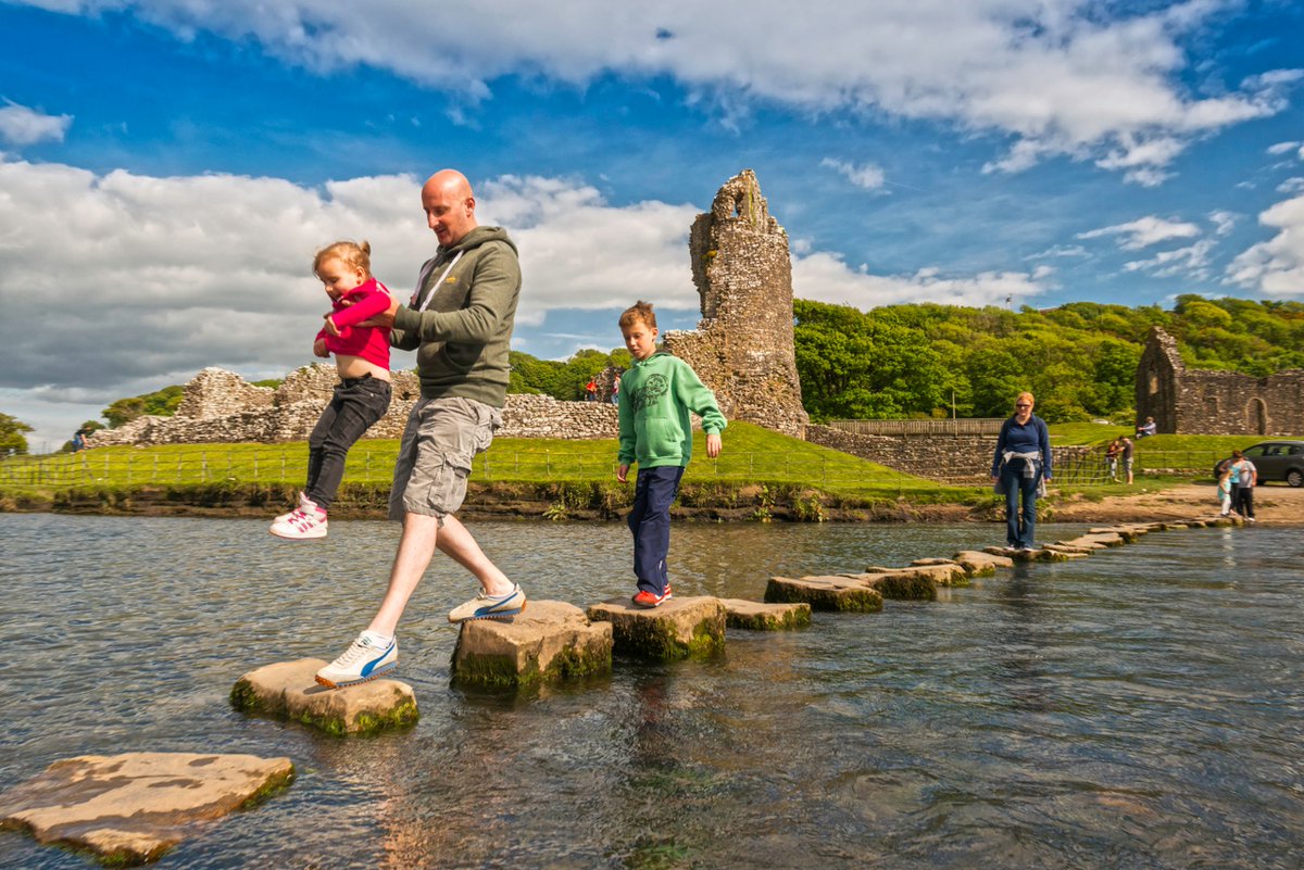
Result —
[[540, 357], [635, 298], [694, 327], [689, 225], [743, 168], [802, 298], [1300, 300], [1301, 42], [1286, 1], [0, 0], [0, 412], [52, 449], [312, 362], [313, 251], [406, 293], [443, 167]]

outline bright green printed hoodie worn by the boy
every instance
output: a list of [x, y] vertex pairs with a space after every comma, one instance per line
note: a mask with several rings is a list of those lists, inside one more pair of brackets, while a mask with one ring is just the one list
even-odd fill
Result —
[[657, 350], [635, 359], [621, 375], [621, 465], [639, 461], [639, 470], [687, 465], [692, 458], [692, 412], [709, 435], [725, 427], [716, 396], [683, 359]]

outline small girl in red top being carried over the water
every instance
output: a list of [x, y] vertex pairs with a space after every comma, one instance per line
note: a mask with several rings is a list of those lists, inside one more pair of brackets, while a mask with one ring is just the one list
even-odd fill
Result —
[[372, 277], [370, 255], [365, 241], [346, 241], [327, 245], [313, 259], [313, 274], [333, 302], [313, 353], [335, 356], [339, 384], [308, 436], [308, 483], [299, 507], [276, 517], [269, 529], [278, 538], [326, 537], [326, 513], [344, 477], [348, 448], [390, 406], [390, 330], [359, 326], [389, 310], [393, 301], [389, 289]]

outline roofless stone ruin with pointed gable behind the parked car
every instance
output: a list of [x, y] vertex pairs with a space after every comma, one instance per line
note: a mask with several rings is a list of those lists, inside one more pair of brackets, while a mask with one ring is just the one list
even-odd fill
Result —
[[1180, 435], [1304, 434], [1304, 370], [1254, 378], [1187, 369], [1176, 340], [1151, 327], [1137, 365], [1137, 419]]

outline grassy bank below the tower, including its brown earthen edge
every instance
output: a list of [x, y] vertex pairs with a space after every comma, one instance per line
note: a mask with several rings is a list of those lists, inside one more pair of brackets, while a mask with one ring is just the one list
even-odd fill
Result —
[[[606, 517], [623, 512], [632, 484], [615, 481], [606, 440], [497, 439], [476, 457], [467, 509], [480, 513]], [[398, 442], [363, 440], [349, 451], [336, 508], [379, 516]], [[0, 464], [7, 509], [266, 513], [289, 504], [306, 474], [297, 444], [106, 447]], [[679, 507], [721, 518], [883, 516], [913, 505], [982, 505], [977, 487], [944, 486], [743, 422], [729, 425], [720, 457], [694, 438]]]

